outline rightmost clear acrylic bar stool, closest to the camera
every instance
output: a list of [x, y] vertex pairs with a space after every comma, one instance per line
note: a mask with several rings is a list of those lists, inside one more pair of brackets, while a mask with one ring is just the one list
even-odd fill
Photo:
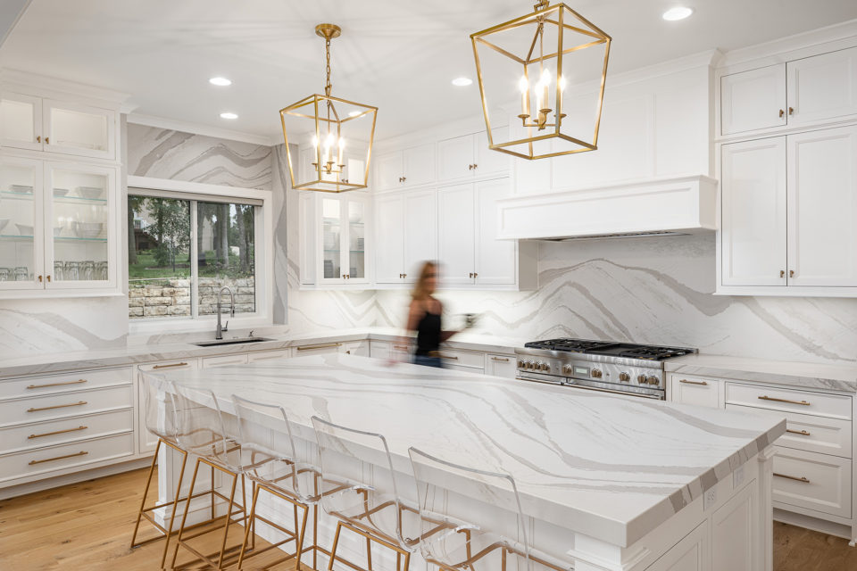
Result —
[[[445, 571], [570, 571], [574, 564], [533, 548], [532, 519], [514, 478], [411, 455], [420, 503], [420, 554]], [[477, 567], [474, 567], [477, 566]]]

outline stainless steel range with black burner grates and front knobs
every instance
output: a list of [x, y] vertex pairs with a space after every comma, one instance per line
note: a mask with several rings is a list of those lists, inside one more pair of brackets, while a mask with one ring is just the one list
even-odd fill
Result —
[[695, 352], [587, 339], [533, 341], [515, 350], [520, 380], [661, 400], [666, 398], [664, 361]]

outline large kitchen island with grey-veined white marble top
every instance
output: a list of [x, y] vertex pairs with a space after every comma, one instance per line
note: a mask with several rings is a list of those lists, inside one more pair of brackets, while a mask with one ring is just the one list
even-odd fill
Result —
[[578, 571], [771, 568], [784, 419], [343, 354], [166, 377], [212, 390], [226, 414], [233, 393], [279, 404], [307, 441], [313, 415], [385, 434], [404, 474], [409, 446], [508, 473], [535, 546]]

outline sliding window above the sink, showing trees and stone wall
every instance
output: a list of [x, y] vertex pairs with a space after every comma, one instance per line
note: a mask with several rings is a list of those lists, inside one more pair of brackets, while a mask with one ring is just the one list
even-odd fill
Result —
[[236, 315], [255, 314], [260, 204], [129, 188], [129, 319], [212, 316], [223, 287], [235, 295]]

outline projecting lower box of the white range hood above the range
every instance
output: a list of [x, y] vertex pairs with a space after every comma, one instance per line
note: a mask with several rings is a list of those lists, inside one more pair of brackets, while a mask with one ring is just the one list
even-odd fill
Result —
[[575, 240], [713, 232], [717, 180], [657, 178], [497, 201], [497, 238]]

